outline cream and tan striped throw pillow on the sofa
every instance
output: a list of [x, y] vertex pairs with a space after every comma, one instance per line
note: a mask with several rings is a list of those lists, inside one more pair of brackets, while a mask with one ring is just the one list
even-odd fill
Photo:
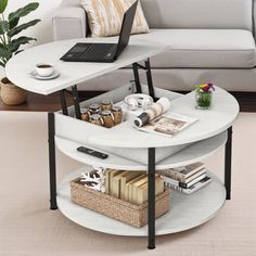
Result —
[[[116, 36], [120, 33], [123, 16], [135, 0], [81, 0], [87, 12], [92, 37]], [[138, 3], [131, 34], [149, 33], [141, 3]]]

